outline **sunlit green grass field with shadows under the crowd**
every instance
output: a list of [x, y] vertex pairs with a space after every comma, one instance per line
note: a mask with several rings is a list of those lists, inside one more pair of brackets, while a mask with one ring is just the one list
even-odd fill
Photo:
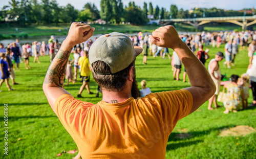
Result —
[[[214, 58], [221, 48], [209, 47], [210, 58]], [[172, 53], [172, 52], [171, 52]], [[73, 58], [73, 57], [72, 57]], [[173, 80], [171, 60], [163, 60], [160, 57], [148, 57], [147, 65], [142, 64], [143, 56], [136, 60], [136, 74], [138, 83], [145, 79], [152, 92], [181, 89], [189, 87], [188, 82]], [[55, 116], [47, 99], [42, 92], [42, 83], [50, 65], [49, 56], [39, 57], [41, 63], [33, 63], [32, 69], [26, 70], [24, 63], [20, 65], [20, 71], [15, 71], [16, 82], [13, 86], [16, 90], [8, 92], [5, 84], [0, 93], [0, 143], [2, 146], [0, 158], [72, 158], [76, 154], [62, 151], [77, 149], [75, 142], [63, 128]], [[209, 60], [206, 62], [208, 65]], [[222, 74], [230, 77], [232, 74], [241, 75], [246, 72], [248, 65], [247, 51], [240, 52], [235, 61], [236, 66], [228, 70], [220, 62]], [[182, 79], [184, 67], [180, 78]], [[188, 81], [188, 79], [186, 80]], [[76, 97], [81, 83], [65, 86]], [[97, 85], [91, 77], [91, 91], [96, 93]], [[140, 88], [140, 86], [139, 86]], [[95, 95], [82, 93], [83, 101], [97, 103], [101, 100]], [[252, 101], [250, 90], [249, 103]], [[4, 104], [8, 104], [8, 155], [4, 154]], [[223, 105], [222, 103], [219, 103]], [[208, 102], [204, 103], [197, 111], [180, 120], [169, 136], [166, 147], [166, 158], [255, 158], [256, 133], [245, 137], [220, 137], [221, 130], [238, 125], [247, 125], [256, 128], [256, 110], [250, 107], [237, 113], [224, 114], [224, 107], [215, 110], [207, 110]], [[183, 136], [184, 139], [179, 138]]]

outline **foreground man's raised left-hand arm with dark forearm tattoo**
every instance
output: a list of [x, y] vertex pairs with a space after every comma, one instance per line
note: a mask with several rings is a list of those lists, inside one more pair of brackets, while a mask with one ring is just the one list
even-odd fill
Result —
[[67, 38], [62, 42], [56, 57], [49, 66], [42, 89], [54, 112], [56, 99], [64, 94], [70, 95], [67, 90], [62, 88], [69, 55], [73, 47], [77, 43], [88, 40], [93, 35], [94, 30], [95, 28], [91, 28], [89, 25], [73, 22]]

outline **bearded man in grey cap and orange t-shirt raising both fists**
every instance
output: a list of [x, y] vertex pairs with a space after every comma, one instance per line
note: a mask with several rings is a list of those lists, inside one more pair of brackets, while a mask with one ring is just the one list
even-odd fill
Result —
[[156, 29], [153, 44], [173, 49], [186, 67], [191, 87], [139, 97], [135, 60], [142, 48], [121, 33], [100, 36], [91, 46], [93, 77], [102, 89], [97, 104], [75, 99], [61, 88], [67, 61], [77, 43], [95, 28], [73, 22], [43, 84], [50, 106], [77, 144], [82, 158], [165, 158], [169, 134], [178, 120], [198, 109], [216, 87], [204, 65], [173, 26]]

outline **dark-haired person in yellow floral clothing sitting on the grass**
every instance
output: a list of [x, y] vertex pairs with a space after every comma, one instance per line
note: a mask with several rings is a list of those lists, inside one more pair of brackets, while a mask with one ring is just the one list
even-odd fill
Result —
[[226, 110], [224, 113], [228, 113], [230, 111], [237, 112], [242, 106], [241, 102], [241, 88], [238, 82], [238, 75], [231, 75], [231, 81], [226, 83], [224, 87], [227, 89], [227, 96], [223, 102]]

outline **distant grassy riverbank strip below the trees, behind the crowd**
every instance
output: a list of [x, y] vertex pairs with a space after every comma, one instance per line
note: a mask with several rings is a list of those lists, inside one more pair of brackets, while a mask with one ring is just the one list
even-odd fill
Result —
[[[133, 25], [91, 25], [96, 29], [97, 34], [107, 34], [110, 32], [121, 32], [121, 33], [138, 33], [152, 32], [155, 29], [161, 27], [159, 25], [146, 25], [146, 26], [133, 26]], [[44, 25], [37, 26], [31, 25], [26, 27], [15, 27], [9, 24], [3, 24], [0, 27], [0, 40], [11, 39], [11, 38], [28, 38], [28, 37], [39, 37], [39, 36], [51, 36], [51, 35], [67, 35], [70, 25]], [[204, 31], [225, 31], [225, 30], [241, 30], [240, 26], [237, 25], [203, 25]], [[256, 26], [255, 26], [256, 27]], [[254, 27], [254, 28], [255, 28]], [[195, 29], [193, 26], [176, 24], [175, 28], [180, 32], [198, 32], [202, 30]]]

